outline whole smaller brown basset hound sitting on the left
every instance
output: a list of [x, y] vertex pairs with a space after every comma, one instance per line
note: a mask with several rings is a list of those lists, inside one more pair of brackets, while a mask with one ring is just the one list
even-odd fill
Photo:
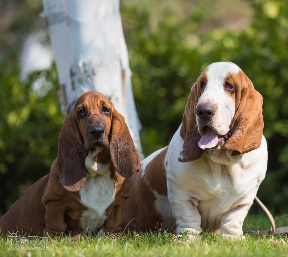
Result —
[[0, 218], [1, 234], [121, 231], [128, 177], [139, 168], [123, 116], [104, 95], [87, 92], [64, 119], [50, 173]]

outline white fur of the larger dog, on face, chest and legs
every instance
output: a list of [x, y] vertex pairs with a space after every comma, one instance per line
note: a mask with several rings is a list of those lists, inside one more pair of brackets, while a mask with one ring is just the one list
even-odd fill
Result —
[[[233, 63], [214, 63], [208, 66], [208, 83], [199, 98], [217, 105], [215, 115], [218, 135], [225, 135], [235, 113], [235, 103], [223, 89], [227, 72], [238, 73]], [[198, 102], [198, 103], [199, 103]], [[267, 144], [262, 136], [258, 149], [231, 156], [225, 149], [206, 149], [201, 158], [179, 162], [183, 139], [180, 127], [174, 134], [165, 158], [168, 199], [176, 220], [176, 234], [188, 231], [191, 239], [205, 230], [221, 229], [223, 238], [242, 238], [242, 225], [267, 168]], [[153, 156], [155, 156], [153, 154]], [[149, 160], [144, 160], [147, 165]], [[159, 206], [159, 196], [155, 206]], [[164, 199], [161, 199], [162, 204]], [[157, 208], [169, 220], [169, 212]], [[165, 211], [163, 211], [165, 210]]]

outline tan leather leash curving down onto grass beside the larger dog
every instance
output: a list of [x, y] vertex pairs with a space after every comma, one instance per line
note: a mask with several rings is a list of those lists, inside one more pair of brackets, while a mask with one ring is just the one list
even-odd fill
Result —
[[259, 200], [259, 198], [255, 197], [256, 203], [261, 207], [261, 209], [264, 211], [264, 213], [267, 215], [270, 223], [271, 223], [271, 229], [262, 230], [262, 231], [254, 231], [249, 230], [245, 231], [244, 234], [254, 234], [256, 237], [262, 237], [262, 236], [274, 236], [274, 235], [281, 235], [281, 234], [288, 234], [288, 226], [286, 227], [280, 227], [276, 228], [274, 218], [271, 214], [271, 212], [267, 209], [267, 207]]

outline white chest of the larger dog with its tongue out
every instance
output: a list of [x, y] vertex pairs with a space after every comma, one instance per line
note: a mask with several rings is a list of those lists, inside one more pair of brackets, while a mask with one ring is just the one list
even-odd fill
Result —
[[[168, 197], [176, 197], [179, 201], [196, 198], [199, 201], [198, 211], [203, 228], [220, 226], [218, 219], [224, 213], [241, 204], [252, 204], [267, 168], [267, 145], [264, 137], [258, 149], [241, 158], [231, 157], [231, 153], [227, 154], [225, 150], [218, 150], [219, 154], [206, 150], [205, 155], [209, 158], [203, 156], [192, 162], [178, 162], [182, 145], [183, 139], [178, 129], [165, 159]], [[186, 203], [184, 201], [183, 205]], [[180, 206], [179, 203], [178, 205]], [[187, 210], [189, 206], [187, 205]], [[177, 208], [177, 204], [172, 207], [174, 211]], [[183, 206], [179, 210], [182, 211]]]

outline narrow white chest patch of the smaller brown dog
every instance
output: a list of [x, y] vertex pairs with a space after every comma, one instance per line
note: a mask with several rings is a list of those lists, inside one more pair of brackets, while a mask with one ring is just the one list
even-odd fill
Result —
[[95, 162], [99, 150], [89, 152], [85, 160], [88, 170], [84, 186], [80, 189], [81, 203], [87, 207], [80, 218], [83, 229], [94, 231], [102, 228], [107, 216], [105, 210], [115, 200], [115, 186], [109, 164]]

